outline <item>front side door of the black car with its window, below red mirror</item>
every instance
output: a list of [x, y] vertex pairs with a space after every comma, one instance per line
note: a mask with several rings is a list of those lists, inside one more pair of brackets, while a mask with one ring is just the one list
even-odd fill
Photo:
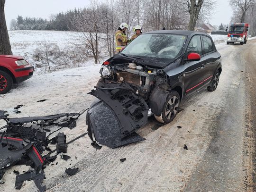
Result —
[[[187, 53], [196, 52], [202, 55], [201, 37], [194, 35], [187, 47]], [[183, 64], [183, 94], [188, 95], [203, 86], [205, 59], [202, 57], [199, 61], [189, 61]]]

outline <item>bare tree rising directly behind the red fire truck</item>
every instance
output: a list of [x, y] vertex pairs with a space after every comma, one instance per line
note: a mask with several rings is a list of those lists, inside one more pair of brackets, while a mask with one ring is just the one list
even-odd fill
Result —
[[229, 0], [229, 5], [235, 9], [235, 11], [238, 11], [240, 9], [241, 11], [241, 23], [246, 22], [246, 14], [247, 10], [252, 7], [256, 3], [256, 0]]

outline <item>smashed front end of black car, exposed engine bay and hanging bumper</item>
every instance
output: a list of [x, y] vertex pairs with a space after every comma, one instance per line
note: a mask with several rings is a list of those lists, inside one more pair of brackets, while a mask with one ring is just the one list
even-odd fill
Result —
[[[99, 99], [98, 102], [91, 105], [87, 113], [88, 135], [91, 140], [111, 148], [141, 141], [139, 135], [137, 140], [128, 135], [146, 125], [149, 109], [158, 115], [161, 113], [159, 109], [162, 108], [158, 107], [158, 103], [165, 102], [168, 89], [166, 84], [168, 84], [169, 78], [163, 70], [149, 68], [135, 61], [128, 63], [105, 61], [100, 73], [101, 79], [95, 86], [96, 90], [89, 92]], [[161, 94], [164, 94], [165, 97], [159, 101]], [[103, 104], [101, 104], [102, 102]], [[103, 123], [104, 118], [101, 117], [103, 112], [94, 112], [94, 108], [100, 110], [99, 106], [101, 105], [107, 107], [105, 111], [108, 110], [109, 114], [114, 114], [115, 119], [112, 122], [105, 119], [105, 123]], [[111, 118], [113, 117], [111, 116]], [[119, 127], [116, 124], [108, 127], [115, 120]], [[116, 128], [111, 130], [113, 126]], [[113, 137], [113, 135], [115, 136]]]

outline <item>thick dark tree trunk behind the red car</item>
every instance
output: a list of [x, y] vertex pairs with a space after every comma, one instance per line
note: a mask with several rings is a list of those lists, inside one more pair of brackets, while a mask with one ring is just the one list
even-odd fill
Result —
[[4, 15], [5, 0], [0, 0], [0, 55], [12, 55]]

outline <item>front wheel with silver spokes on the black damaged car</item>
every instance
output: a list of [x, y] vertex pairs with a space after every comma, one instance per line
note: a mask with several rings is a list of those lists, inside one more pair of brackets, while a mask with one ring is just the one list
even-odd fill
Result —
[[171, 91], [166, 98], [165, 104], [162, 109], [161, 116], [156, 116], [155, 119], [160, 123], [170, 123], [176, 117], [180, 108], [180, 95], [176, 91]]

